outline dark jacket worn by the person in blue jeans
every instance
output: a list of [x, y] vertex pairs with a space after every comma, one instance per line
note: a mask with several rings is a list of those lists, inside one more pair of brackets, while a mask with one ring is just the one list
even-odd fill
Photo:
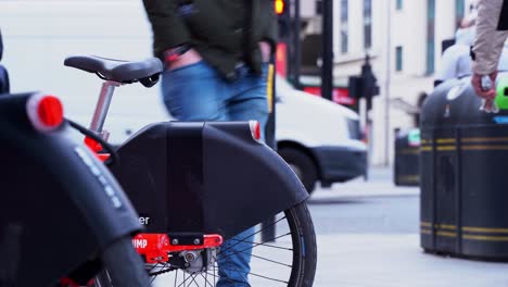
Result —
[[[143, 3], [158, 58], [169, 48], [190, 43], [225, 77], [233, 78], [239, 62], [261, 73], [259, 41], [270, 42], [275, 50], [277, 18], [272, 0], [143, 0]], [[251, 33], [246, 32], [249, 26]]]

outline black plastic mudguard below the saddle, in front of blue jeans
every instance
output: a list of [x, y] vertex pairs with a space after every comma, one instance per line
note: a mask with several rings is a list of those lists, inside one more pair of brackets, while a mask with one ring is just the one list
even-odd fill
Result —
[[112, 172], [150, 233], [218, 233], [225, 238], [308, 194], [249, 122], [168, 122], [118, 148]]

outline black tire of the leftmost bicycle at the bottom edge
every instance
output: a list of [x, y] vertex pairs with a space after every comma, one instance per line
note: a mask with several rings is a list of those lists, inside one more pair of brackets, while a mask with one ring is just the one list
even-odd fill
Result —
[[150, 278], [130, 237], [122, 238], [102, 253], [104, 270], [96, 277], [94, 287], [149, 287]]

